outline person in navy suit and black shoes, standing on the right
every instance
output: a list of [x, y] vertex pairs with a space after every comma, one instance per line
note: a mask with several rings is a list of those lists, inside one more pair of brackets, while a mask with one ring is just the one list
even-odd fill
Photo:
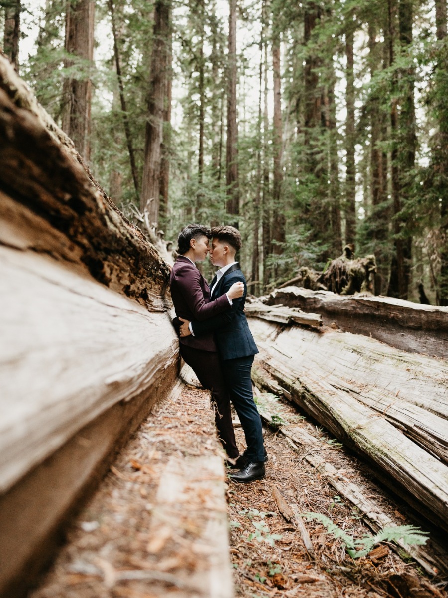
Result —
[[247, 443], [247, 449], [239, 460], [242, 468], [230, 477], [233, 481], [247, 483], [260, 480], [266, 475], [267, 456], [263, 444], [262, 422], [254, 402], [250, 376], [258, 349], [244, 313], [246, 278], [235, 260], [242, 245], [240, 231], [231, 226], [214, 227], [211, 228], [211, 236], [210, 260], [214, 266], [220, 266], [211, 281], [211, 300], [225, 297], [236, 282], [244, 284], [244, 294], [232, 301], [230, 310], [201, 321], [198, 318], [189, 321], [189, 318], [180, 317], [183, 322], [180, 338], [183, 340], [194, 336], [200, 339], [214, 331], [224, 379], [240, 417]]

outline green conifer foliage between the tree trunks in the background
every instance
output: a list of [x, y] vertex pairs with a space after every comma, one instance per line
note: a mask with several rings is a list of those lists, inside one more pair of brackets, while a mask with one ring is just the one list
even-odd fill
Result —
[[[6, 0], [1, 3], [6, 4]], [[94, 65], [66, 54], [66, 4], [48, 0], [45, 8], [42, 5], [33, 15], [39, 28], [35, 52], [29, 60], [20, 61], [20, 72], [58, 124], [66, 101], [65, 78], [91, 79], [89, 166], [108, 193], [119, 175], [121, 189], [114, 192], [113, 199], [130, 213], [137, 194], [118, 96], [111, 16], [106, 0], [95, 4]], [[357, 255], [375, 254], [384, 288], [397, 238], [412, 239], [414, 247], [421, 247], [429, 234], [432, 239], [437, 237], [431, 252], [414, 252], [410, 272], [415, 279], [418, 272], [434, 286], [439, 300], [445, 297], [448, 301], [448, 38], [435, 39], [432, 13], [425, 3], [412, 6], [412, 41], [405, 44], [400, 39], [397, 17], [389, 46], [382, 0], [302, 4], [243, 0], [238, 5], [238, 222], [244, 240], [240, 260], [248, 273], [258, 236], [259, 261], [265, 266], [268, 288], [296, 276], [300, 267], [321, 270], [352, 240], [342, 237], [347, 208], [345, 54], [348, 35], [354, 33]], [[114, 0], [114, 8], [127, 118], [141, 185], [154, 3]], [[305, 39], [309, 11], [315, 11], [315, 19]], [[0, 13], [3, 25], [4, 11]], [[173, 130], [169, 147], [164, 140], [164, 152], [170, 158], [170, 198], [159, 222], [165, 239], [175, 239], [186, 221], [234, 222], [234, 216], [226, 212], [227, 17], [216, 2], [204, 5], [198, 0], [174, 3], [172, 15]], [[277, 35], [284, 50], [284, 135], [283, 182], [274, 205], [274, 127], [270, 109], [267, 120], [264, 109], [265, 99], [268, 108], [272, 105], [271, 74], [267, 75], [272, 71], [272, 36]], [[389, 63], [391, 48], [393, 61]], [[407, 124], [412, 104], [415, 139]], [[392, 106], [397, 112], [395, 128], [391, 126]], [[374, 132], [375, 124], [378, 130]], [[378, 197], [374, 197], [373, 184], [378, 155], [373, 149], [382, 156]], [[410, 157], [413, 153], [415, 161]], [[395, 205], [392, 166], [398, 169]], [[280, 246], [269, 238], [276, 212], [286, 218], [286, 240]], [[263, 232], [268, 237], [264, 242]], [[262, 269], [254, 275], [262, 279]]]

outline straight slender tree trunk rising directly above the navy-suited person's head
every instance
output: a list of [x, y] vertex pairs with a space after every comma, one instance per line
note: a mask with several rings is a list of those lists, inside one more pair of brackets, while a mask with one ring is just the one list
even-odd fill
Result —
[[238, 188], [237, 125], [237, 0], [229, 0], [229, 75], [227, 96], [227, 212], [238, 228], [240, 190]]

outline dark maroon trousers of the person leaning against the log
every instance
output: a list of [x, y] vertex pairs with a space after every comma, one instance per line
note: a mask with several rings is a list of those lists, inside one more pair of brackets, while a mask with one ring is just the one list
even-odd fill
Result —
[[240, 451], [238, 451], [235, 440], [230, 396], [222, 375], [218, 353], [194, 349], [182, 343], [180, 343], [179, 352], [183, 361], [192, 368], [201, 385], [210, 390], [216, 407], [214, 423], [219, 440], [228, 456], [231, 459], [237, 459]]

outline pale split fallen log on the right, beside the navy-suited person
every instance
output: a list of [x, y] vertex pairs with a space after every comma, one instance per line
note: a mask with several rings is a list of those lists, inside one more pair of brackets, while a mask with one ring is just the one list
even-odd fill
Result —
[[[373, 463], [378, 478], [424, 517], [448, 530], [448, 468], [425, 450], [432, 435], [446, 456], [447, 362], [392, 350], [348, 332], [322, 334], [295, 326], [281, 330], [254, 318], [250, 327], [260, 349], [256, 364], [284, 395]], [[255, 376], [262, 379], [262, 371]], [[370, 405], [379, 397], [392, 405], [400, 395], [400, 401], [419, 407], [412, 434], [387, 419], [383, 403], [373, 410], [361, 395]]]

